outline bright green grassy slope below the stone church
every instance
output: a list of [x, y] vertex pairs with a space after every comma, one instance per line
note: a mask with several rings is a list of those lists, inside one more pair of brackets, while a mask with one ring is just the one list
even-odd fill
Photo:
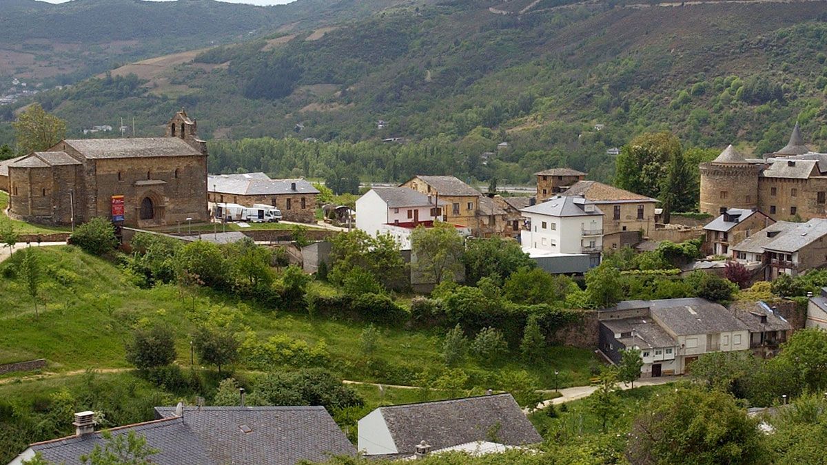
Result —
[[[20, 280], [0, 280], [0, 362], [42, 357], [52, 372], [128, 367], [123, 346], [132, 328], [160, 322], [175, 334], [179, 364], [189, 366], [194, 323], [186, 315], [190, 301], [182, 299], [177, 287], [140, 289], [117, 266], [74, 247], [32, 250], [45, 271], [38, 298], [40, 316], [36, 318]], [[2, 263], [0, 271], [13, 266], [13, 261]], [[313, 286], [326, 289], [322, 283]], [[439, 330], [380, 327], [378, 348], [368, 360], [361, 355], [359, 342], [366, 324], [258, 309], [208, 290], [200, 292], [196, 305], [239, 310], [240, 323], [260, 340], [286, 335], [315, 344], [324, 339], [332, 359], [330, 368], [345, 379], [412, 385], [422, 372], [438, 375], [445, 369]], [[459, 368], [470, 377], [469, 389], [496, 389], [501, 374], [519, 370], [536, 376], [541, 387], [552, 389], [555, 370], [560, 372], [559, 387], [586, 385], [598, 364], [588, 350], [552, 347], [539, 363], [524, 363], [517, 352], [511, 352], [495, 364], [468, 357]]]

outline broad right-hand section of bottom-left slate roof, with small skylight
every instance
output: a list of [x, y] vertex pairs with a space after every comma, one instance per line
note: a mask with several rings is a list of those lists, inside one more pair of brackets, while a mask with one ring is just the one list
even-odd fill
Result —
[[[155, 407], [174, 415], [174, 407]], [[185, 407], [184, 424], [210, 453], [211, 463], [293, 465], [356, 455], [324, 407]], [[249, 433], [242, 431], [245, 425]]]

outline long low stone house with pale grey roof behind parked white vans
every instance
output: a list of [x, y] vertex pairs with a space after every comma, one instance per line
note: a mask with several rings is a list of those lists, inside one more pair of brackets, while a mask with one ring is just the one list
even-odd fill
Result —
[[271, 180], [264, 173], [209, 175], [209, 200], [216, 204], [272, 205], [287, 221], [313, 223], [318, 189], [307, 180]]

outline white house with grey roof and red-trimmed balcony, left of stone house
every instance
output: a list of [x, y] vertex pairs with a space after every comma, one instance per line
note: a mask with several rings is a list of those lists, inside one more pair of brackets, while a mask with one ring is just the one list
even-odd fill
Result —
[[[372, 237], [390, 234], [402, 250], [410, 250], [411, 232], [418, 227], [433, 228], [442, 218], [447, 202], [435, 195], [422, 194], [407, 187], [375, 187], [356, 199], [356, 228]], [[471, 228], [458, 225], [462, 235]]]

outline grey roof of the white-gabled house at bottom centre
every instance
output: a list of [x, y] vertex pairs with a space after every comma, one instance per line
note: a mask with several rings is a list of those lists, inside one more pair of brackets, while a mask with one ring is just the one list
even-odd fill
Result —
[[402, 454], [414, 453], [414, 446], [423, 440], [434, 450], [485, 441], [495, 428], [498, 443], [543, 442], [510, 394], [392, 405], [379, 410]]

